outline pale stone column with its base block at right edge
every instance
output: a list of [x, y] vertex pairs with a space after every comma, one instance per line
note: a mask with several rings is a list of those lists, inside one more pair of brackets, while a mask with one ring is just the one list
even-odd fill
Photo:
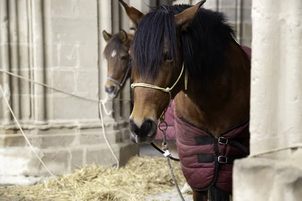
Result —
[[254, 0], [252, 20], [250, 142], [254, 157], [235, 161], [234, 200], [300, 200], [302, 3]]

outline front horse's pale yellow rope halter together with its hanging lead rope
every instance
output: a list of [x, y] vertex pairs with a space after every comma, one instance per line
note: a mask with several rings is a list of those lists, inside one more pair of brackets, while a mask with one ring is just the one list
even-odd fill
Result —
[[[181, 69], [181, 72], [180, 72], [180, 75], [179, 77], [177, 78], [176, 82], [173, 84], [173, 86], [171, 88], [167, 87], [167, 88], [162, 88], [162, 87], [159, 87], [159, 86], [156, 86], [156, 85], [153, 85], [153, 84], [147, 84], [147, 83], [132, 83], [131, 84], [131, 88], [135, 88], [136, 86], [141, 86], [141, 87], [147, 87], [147, 88], [153, 88], [153, 89], [158, 89], [158, 90], [161, 90], [161, 91], [164, 91], [164, 92], [167, 92], [169, 93], [170, 95], [170, 100], [172, 99], [172, 96], [171, 96], [171, 90], [176, 86], [176, 84], [178, 83], [178, 81], [180, 80], [182, 74], [183, 74], [183, 71], [184, 71], [184, 65]], [[187, 82], [188, 82], [188, 72], [187, 72], [187, 69], [185, 70], [185, 96], [188, 96], [187, 95]], [[169, 147], [168, 147], [168, 144], [167, 144], [167, 140], [166, 140], [166, 130], [168, 129], [168, 124], [167, 122], [165, 121], [165, 114], [168, 110], [168, 107], [170, 105], [170, 101], [169, 101], [169, 104], [167, 105], [166, 109], [164, 110], [162, 116], [160, 117], [160, 123], [159, 123], [159, 129], [163, 132], [163, 148], [162, 150], [165, 151], [164, 153], [164, 156], [166, 157], [167, 159], [167, 162], [168, 162], [168, 166], [169, 166], [169, 170], [170, 170], [170, 173], [171, 173], [171, 176], [172, 176], [172, 179], [174, 181], [174, 185], [177, 189], [177, 192], [181, 198], [182, 201], [185, 201], [180, 189], [179, 189], [179, 186], [177, 184], [177, 180], [175, 178], [175, 175], [173, 173], [173, 169], [172, 169], [172, 166], [171, 166], [171, 162], [170, 162], [170, 158], [169, 156], [171, 155], [171, 153], [169, 152]], [[166, 128], [164, 129], [161, 129], [161, 124], [165, 124], [166, 125]]]

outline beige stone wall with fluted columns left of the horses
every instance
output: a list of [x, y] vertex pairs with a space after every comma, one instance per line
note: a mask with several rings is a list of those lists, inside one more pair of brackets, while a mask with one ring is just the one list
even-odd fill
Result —
[[[107, 63], [102, 31], [129, 30], [117, 1], [0, 1], [1, 69], [66, 92], [105, 97]], [[112, 9], [112, 10], [111, 10]], [[113, 20], [114, 23], [112, 22]], [[5, 96], [37, 153], [55, 174], [85, 164], [113, 165], [97, 102], [2, 74]], [[129, 99], [129, 83], [121, 98]], [[0, 183], [32, 183], [47, 176], [12, 119], [0, 94]], [[105, 130], [120, 164], [138, 154], [129, 140], [129, 101], [108, 103]]]

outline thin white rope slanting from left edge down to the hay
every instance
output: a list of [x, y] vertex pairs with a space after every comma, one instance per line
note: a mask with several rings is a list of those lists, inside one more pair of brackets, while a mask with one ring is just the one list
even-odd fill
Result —
[[44, 163], [44, 162], [42, 161], [42, 159], [39, 157], [39, 155], [37, 154], [36, 150], [33, 148], [33, 146], [31, 145], [31, 143], [29, 142], [29, 140], [28, 140], [27, 136], [25, 135], [23, 129], [21, 128], [21, 126], [20, 126], [20, 124], [19, 124], [19, 122], [18, 122], [18, 120], [17, 120], [17, 118], [16, 118], [16, 116], [15, 116], [13, 110], [12, 110], [12, 107], [10, 106], [9, 101], [8, 101], [8, 99], [7, 99], [6, 96], [5, 96], [5, 93], [4, 93], [4, 90], [3, 90], [1, 84], [0, 84], [0, 90], [1, 90], [1, 92], [2, 92], [2, 94], [3, 94], [3, 98], [4, 98], [4, 100], [5, 100], [6, 104], [7, 104], [7, 106], [8, 106], [8, 108], [9, 108], [10, 112], [12, 113], [13, 118], [15, 119], [16, 124], [18, 125], [18, 127], [19, 127], [19, 129], [20, 129], [20, 131], [21, 131], [23, 137], [25, 138], [27, 144], [30, 146], [30, 148], [31, 148], [31, 149], [33, 150], [33, 152], [35, 153], [36, 157], [39, 159], [39, 161], [42, 163], [42, 165], [45, 167], [45, 169], [48, 171], [48, 173], [56, 180], [56, 182], [58, 182], [58, 184], [60, 184], [60, 185], [63, 187], [63, 189], [66, 190], [66, 192], [68, 192], [75, 200], [78, 200], [78, 201], [79, 201], [79, 199], [78, 199], [77, 197], [75, 197], [72, 193], [70, 193], [70, 192], [66, 189], [66, 187], [63, 186], [63, 184], [62, 184], [62, 183], [61, 183], [61, 182], [60, 182], [60, 181], [59, 181], [59, 180], [51, 173], [51, 171], [47, 168], [47, 166], [45, 165], [45, 163]]

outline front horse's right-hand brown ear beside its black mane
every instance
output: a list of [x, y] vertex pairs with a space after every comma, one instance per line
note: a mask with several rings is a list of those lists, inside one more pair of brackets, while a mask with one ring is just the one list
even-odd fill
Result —
[[199, 8], [206, 2], [206, 0], [203, 0], [199, 3], [197, 3], [195, 6], [188, 8], [181, 12], [178, 15], [174, 16], [174, 21], [177, 27], [180, 28], [180, 30], [186, 30], [188, 25], [192, 22], [194, 19], [197, 11]]

